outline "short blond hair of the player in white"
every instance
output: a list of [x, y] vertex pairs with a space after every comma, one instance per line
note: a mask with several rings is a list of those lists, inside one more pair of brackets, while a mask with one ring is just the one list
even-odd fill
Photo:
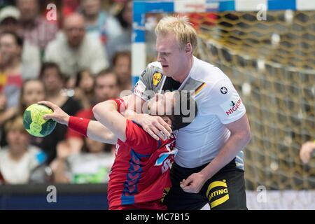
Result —
[[190, 43], [193, 50], [197, 47], [197, 32], [191, 25], [187, 16], [167, 16], [162, 18], [155, 27], [155, 34], [166, 36], [175, 34], [179, 47], [183, 50], [187, 43]]

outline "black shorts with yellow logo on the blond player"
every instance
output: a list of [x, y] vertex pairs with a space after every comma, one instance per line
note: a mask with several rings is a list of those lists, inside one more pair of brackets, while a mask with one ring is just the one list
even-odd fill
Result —
[[172, 188], [164, 203], [169, 210], [200, 210], [209, 203], [211, 210], [247, 209], [244, 171], [238, 169], [235, 160], [209, 179], [200, 193], [186, 193], [179, 183], [191, 174], [200, 172], [207, 165], [196, 168], [180, 167], [175, 162], [171, 169]]

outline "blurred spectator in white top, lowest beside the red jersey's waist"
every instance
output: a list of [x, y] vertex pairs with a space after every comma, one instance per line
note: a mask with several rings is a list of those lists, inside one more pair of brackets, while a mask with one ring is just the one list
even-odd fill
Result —
[[114, 160], [114, 147], [86, 138], [81, 153], [61, 155], [50, 167], [56, 183], [107, 183]]

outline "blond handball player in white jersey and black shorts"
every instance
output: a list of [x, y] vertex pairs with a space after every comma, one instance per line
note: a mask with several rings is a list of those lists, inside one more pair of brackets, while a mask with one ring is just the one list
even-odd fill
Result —
[[[230, 78], [193, 56], [197, 34], [186, 18], [167, 17], [155, 29], [158, 62], [148, 65], [134, 94], [148, 101], [152, 92], [195, 90], [197, 117], [179, 130], [172, 166], [168, 209], [246, 209], [242, 149], [251, 138], [243, 102]], [[154, 120], [155, 119], [155, 120]], [[153, 137], [167, 125], [138, 117]], [[165, 127], [165, 128], [164, 128]]]

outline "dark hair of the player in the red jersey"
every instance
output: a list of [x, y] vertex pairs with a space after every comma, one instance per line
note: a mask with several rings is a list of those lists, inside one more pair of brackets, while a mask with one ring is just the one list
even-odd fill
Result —
[[179, 130], [193, 122], [198, 109], [193, 94], [187, 90], [176, 91], [174, 100], [172, 115], [168, 117], [172, 120], [172, 130]]

